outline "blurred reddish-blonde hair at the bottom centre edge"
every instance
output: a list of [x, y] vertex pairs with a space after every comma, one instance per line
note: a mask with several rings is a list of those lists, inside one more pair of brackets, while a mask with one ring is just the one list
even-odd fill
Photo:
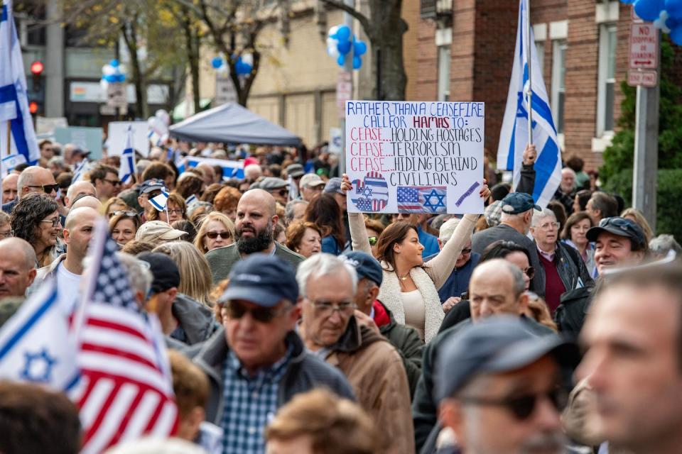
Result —
[[266, 440], [309, 436], [315, 454], [374, 454], [384, 440], [367, 413], [326, 389], [298, 394], [277, 412]]

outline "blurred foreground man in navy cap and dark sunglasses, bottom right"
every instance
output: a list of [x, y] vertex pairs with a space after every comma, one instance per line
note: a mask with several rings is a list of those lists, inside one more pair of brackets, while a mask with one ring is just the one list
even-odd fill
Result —
[[438, 358], [440, 421], [463, 454], [565, 453], [563, 377], [578, 360], [574, 344], [538, 338], [516, 317], [467, 326]]

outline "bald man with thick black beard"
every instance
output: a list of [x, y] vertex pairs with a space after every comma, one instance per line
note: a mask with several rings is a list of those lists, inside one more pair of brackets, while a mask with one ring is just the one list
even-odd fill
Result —
[[206, 254], [213, 282], [225, 279], [237, 260], [254, 253], [276, 255], [298, 267], [305, 260], [303, 256], [274, 240], [273, 232], [278, 221], [275, 199], [269, 192], [263, 189], [245, 192], [237, 204], [237, 221], [234, 223], [236, 242]]

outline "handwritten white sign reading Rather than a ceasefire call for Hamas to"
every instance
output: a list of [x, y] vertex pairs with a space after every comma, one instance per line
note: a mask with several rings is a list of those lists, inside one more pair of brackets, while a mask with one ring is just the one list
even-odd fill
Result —
[[348, 211], [482, 213], [482, 102], [346, 102]]

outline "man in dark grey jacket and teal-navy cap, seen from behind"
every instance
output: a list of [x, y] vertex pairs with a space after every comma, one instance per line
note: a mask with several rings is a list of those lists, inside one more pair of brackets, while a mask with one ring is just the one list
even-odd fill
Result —
[[543, 297], [545, 273], [538, 258], [538, 248], [533, 240], [526, 236], [531, 228], [534, 209], [541, 210], [540, 206], [533, 201], [532, 196], [524, 192], [510, 192], [502, 199], [502, 216], [499, 225], [475, 233], [471, 238], [471, 250], [480, 254], [498, 240], [512, 241], [524, 247], [531, 258], [531, 267], [535, 270], [530, 289]]

